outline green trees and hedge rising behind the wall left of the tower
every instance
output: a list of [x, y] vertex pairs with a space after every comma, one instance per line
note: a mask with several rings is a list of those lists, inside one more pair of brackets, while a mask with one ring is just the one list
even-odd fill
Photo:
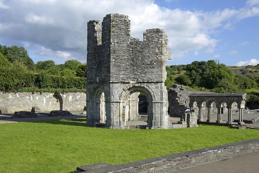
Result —
[[86, 70], [86, 64], [77, 60], [58, 65], [53, 60], [35, 64], [24, 47], [0, 44], [0, 91], [85, 92]]

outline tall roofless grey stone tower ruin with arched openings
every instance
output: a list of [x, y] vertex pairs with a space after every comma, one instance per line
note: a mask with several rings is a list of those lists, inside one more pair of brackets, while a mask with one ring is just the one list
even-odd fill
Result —
[[165, 64], [171, 59], [164, 30], [130, 37], [130, 20], [108, 14], [87, 22], [87, 125], [128, 128], [138, 116], [138, 95], [148, 102], [147, 128], [168, 128]]

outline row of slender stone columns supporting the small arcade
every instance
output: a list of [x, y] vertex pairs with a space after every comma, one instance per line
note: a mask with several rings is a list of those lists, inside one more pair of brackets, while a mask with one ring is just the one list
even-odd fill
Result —
[[[222, 107], [217, 107], [217, 120], [216, 123], [221, 123], [221, 108]], [[193, 107], [190, 107], [190, 109], [192, 110]], [[211, 107], [208, 107], [208, 116], [207, 116], [207, 122], [211, 122]], [[202, 107], [198, 106], [198, 122], [203, 121], [203, 115], [202, 115]], [[232, 124], [232, 108], [228, 108], [228, 121], [226, 122], [227, 124]], [[243, 108], [239, 108], [239, 125], [243, 125]]]

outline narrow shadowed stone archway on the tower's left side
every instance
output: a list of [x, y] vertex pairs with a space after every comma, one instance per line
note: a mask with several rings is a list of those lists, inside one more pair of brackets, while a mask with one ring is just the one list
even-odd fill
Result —
[[87, 124], [105, 123], [106, 104], [104, 89], [100, 86], [96, 86], [91, 93], [91, 98], [92, 100], [89, 101], [91, 105], [89, 106], [92, 107], [92, 109], [91, 112], [87, 113]]

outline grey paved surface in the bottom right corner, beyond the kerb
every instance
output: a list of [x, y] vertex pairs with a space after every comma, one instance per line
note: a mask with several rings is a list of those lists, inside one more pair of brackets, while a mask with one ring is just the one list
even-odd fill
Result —
[[259, 173], [259, 151], [185, 168], [174, 173]]

